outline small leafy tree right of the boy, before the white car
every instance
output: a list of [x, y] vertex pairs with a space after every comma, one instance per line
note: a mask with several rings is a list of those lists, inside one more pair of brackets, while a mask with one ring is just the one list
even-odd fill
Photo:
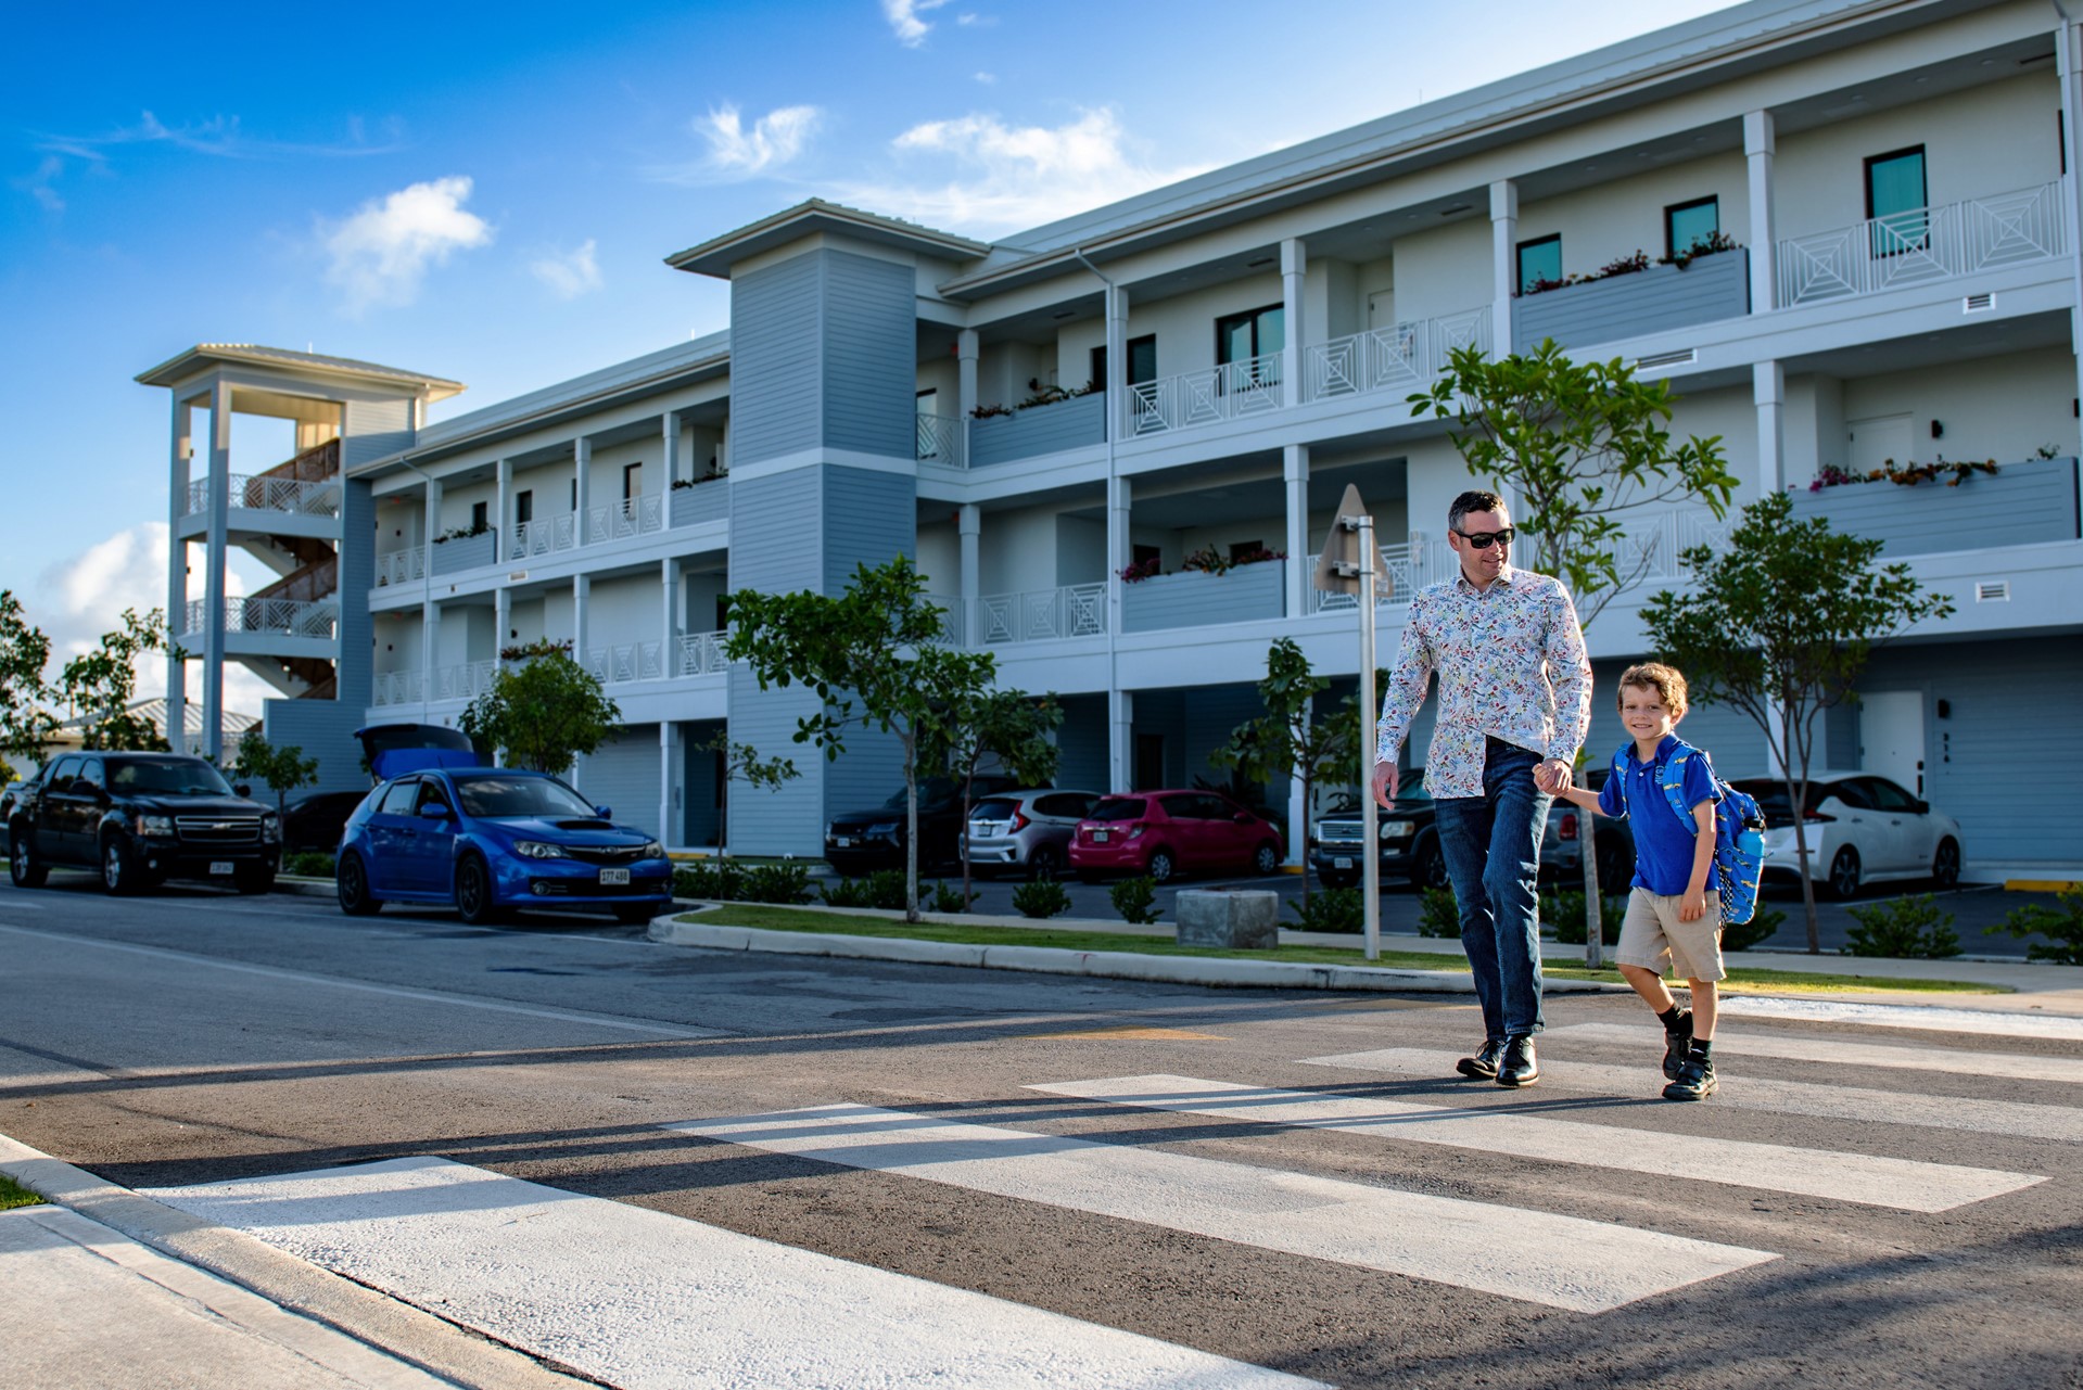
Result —
[[1927, 618], [1948, 618], [1948, 595], [1925, 593], [1906, 564], [1875, 564], [1881, 541], [1843, 535], [1821, 516], [1793, 520], [1793, 501], [1773, 493], [1743, 508], [1716, 556], [1696, 545], [1679, 556], [1691, 593], [1654, 595], [1641, 610], [1650, 643], [1685, 672], [1693, 699], [1725, 703], [1764, 730], [1793, 807], [1793, 851], [1816, 932], [1808, 878], [1808, 768], [1823, 712], [1858, 699], [1856, 683], [1875, 647]]

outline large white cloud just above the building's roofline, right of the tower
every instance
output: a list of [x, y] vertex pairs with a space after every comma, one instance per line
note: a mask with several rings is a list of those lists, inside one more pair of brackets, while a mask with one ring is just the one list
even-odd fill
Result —
[[1002, 231], [1052, 223], [1085, 208], [1202, 173], [1137, 158], [1110, 108], [1058, 127], [1012, 127], [992, 114], [914, 125], [892, 141], [904, 160], [952, 164], [946, 183], [852, 183], [844, 202], [935, 227]]

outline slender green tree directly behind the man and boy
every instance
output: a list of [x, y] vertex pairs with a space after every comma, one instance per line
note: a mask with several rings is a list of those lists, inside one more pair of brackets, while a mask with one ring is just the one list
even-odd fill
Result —
[[[1668, 381], [1639, 381], [1635, 368], [1573, 362], [1554, 339], [1531, 354], [1491, 360], [1456, 348], [1414, 410], [1454, 420], [1454, 447], [1469, 472], [1519, 493], [1514, 524], [1531, 541], [1529, 570], [1568, 585], [1577, 622], [1591, 622], [1650, 566], [1648, 549], [1623, 566], [1627, 529], [1618, 512], [1671, 501], [1702, 501], [1727, 514], [1735, 477], [1721, 437], [1673, 443]], [[1579, 753], [1581, 757], [1581, 753]], [[1581, 764], [1579, 764], [1581, 766]], [[1596, 836], [1583, 839], [1585, 959], [1600, 959]]]

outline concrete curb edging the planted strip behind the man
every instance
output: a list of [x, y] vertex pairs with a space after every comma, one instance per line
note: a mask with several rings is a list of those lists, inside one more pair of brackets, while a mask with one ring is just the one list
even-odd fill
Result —
[[[650, 938], [706, 951], [764, 951], [771, 955], [829, 955], [914, 966], [971, 966], [1025, 970], [1102, 980], [1148, 980], [1214, 988], [1319, 988], [1398, 995], [1473, 995], [1475, 978], [1458, 970], [1389, 970], [1387, 966], [1306, 966], [1248, 961], [1221, 955], [1144, 955], [1139, 951], [1073, 951], [1066, 947], [992, 947], [908, 936], [846, 936], [839, 932], [775, 932], [758, 926], [710, 926], [658, 918]], [[1627, 995], [1625, 984], [1602, 980], [1546, 980], [1552, 995]]]

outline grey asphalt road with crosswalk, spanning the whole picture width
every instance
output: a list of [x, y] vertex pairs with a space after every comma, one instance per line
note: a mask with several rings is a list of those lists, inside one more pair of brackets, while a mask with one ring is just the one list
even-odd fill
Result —
[[[1444, 1078], [1450, 997], [69, 874], [0, 886], [0, 1132], [133, 1188], [437, 1157], [1341, 1386], [2083, 1384], [2083, 1038], [1735, 1013], [1685, 1107], [1623, 997], [1550, 1001], [1508, 1092]], [[833, 1105], [875, 1134], [773, 1119]]]

